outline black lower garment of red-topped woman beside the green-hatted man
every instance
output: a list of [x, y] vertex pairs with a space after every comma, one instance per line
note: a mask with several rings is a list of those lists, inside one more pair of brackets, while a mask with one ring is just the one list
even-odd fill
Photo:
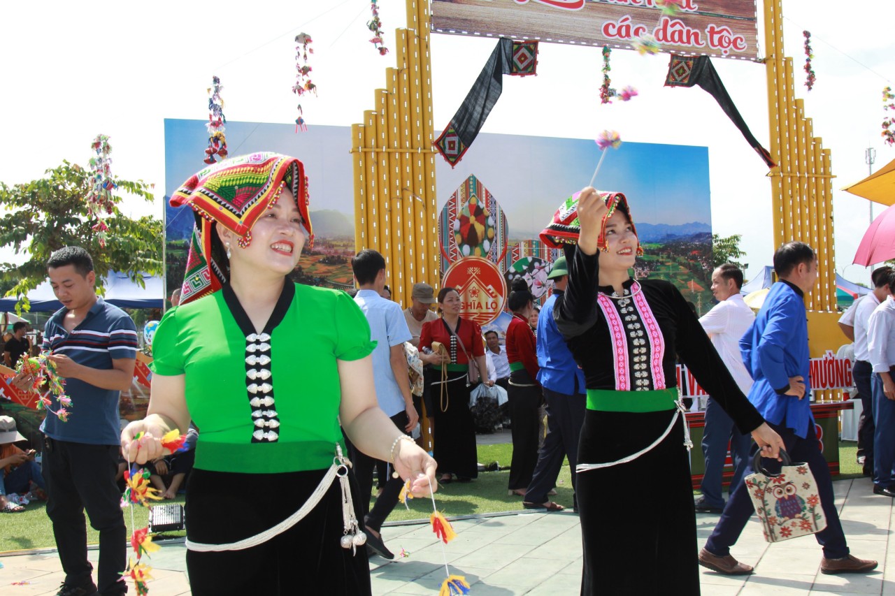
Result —
[[527, 489], [538, 463], [538, 408], [543, 396], [526, 370], [514, 370], [509, 379], [507, 406], [513, 437], [509, 490]]

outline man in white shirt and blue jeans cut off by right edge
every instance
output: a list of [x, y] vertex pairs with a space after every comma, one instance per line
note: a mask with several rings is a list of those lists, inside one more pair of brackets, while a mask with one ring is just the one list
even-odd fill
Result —
[[867, 353], [874, 371], [874, 493], [895, 498], [895, 271], [890, 270], [885, 282], [889, 296], [867, 323]]

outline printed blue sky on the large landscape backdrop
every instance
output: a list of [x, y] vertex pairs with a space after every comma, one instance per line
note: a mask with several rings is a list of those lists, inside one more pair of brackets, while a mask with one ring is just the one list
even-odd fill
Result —
[[[294, 125], [226, 124], [230, 155], [272, 150], [301, 159], [309, 177], [311, 209], [354, 213], [354, 183], [348, 149], [351, 129]], [[170, 196], [204, 164], [205, 123], [165, 121], [165, 193]], [[607, 149], [596, 186], [624, 192], [635, 221], [651, 224], [711, 224], [709, 156], [704, 147], [622, 142]], [[476, 175], [507, 214], [510, 236], [540, 232], [559, 203], [586, 185], [600, 159], [592, 140], [482, 133], [453, 170], [436, 158], [439, 210], [469, 175]]]

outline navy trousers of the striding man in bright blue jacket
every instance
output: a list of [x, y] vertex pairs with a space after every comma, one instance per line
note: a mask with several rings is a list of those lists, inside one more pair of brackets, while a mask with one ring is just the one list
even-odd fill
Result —
[[[786, 422], [783, 421], [782, 424]], [[785, 426], [771, 424], [771, 429], [776, 430], [783, 439], [787, 453], [793, 462], [805, 462], [814, 474], [814, 481], [817, 484], [817, 493], [821, 498], [823, 506], [823, 515], [827, 517], [827, 527], [821, 532], [814, 534], [818, 544], [823, 547], [823, 556], [826, 558], [844, 558], [848, 557], [848, 545], [845, 540], [845, 533], [842, 532], [842, 524], [840, 524], [839, 513], [836, 511], [836, 503], [833, 497], [833, 484], [830, 476], [830, 468], [827, 467], [827, 461], [823, 458], [820, 447], [817, 446], [817, 435], [814, 433], [814, 422], [808, 421], [808, 434], [805, 438], [798, 437], [796, 432]], [[757, 449], [754, 446], [753, 449]], [[753, 451], [754, 453], [754, 451]], [[780, 469], [780, 463], [768, 459], [763, 460], [765, 468], [775, 473]], [[753, 473], [752, 461], [750, 459], [746, 466], [745, 476]], [[744, 477], [745, 477], [744, 476]], [[746, 489], [746, 482], [740, 481], [737, 489], [730, 494], [730, 499], [724, 513], [721, 514], [718, 525], [715, 526], [714, 532], [709, 536], [709, 541], [705, 543], [705, 549], [718, 557], [726, 557], [730, 554], [730, 547], [737, 543], [739, 535], [746, 527], [746, 522], [754, 514], [755, 509], [752, 505], [752, 499], [749, 498], [749, 490]]]

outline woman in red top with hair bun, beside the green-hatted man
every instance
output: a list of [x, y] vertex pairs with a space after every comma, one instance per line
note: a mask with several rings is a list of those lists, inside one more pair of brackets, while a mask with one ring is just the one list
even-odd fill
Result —
[[[509, 362], [509, 418], [513, 431], [513, 463], [510, 464], [509, 494], [525, 496], [538, 463], [538, 408], [543, 396], [538, 383], [538, 354], [528, 318], [534, 309], [534, 296], [525, 280], [516, 278], [507, 305], [513, 320], [507, 328]], [[540, 504], [537, 507], [542, 507]]]

